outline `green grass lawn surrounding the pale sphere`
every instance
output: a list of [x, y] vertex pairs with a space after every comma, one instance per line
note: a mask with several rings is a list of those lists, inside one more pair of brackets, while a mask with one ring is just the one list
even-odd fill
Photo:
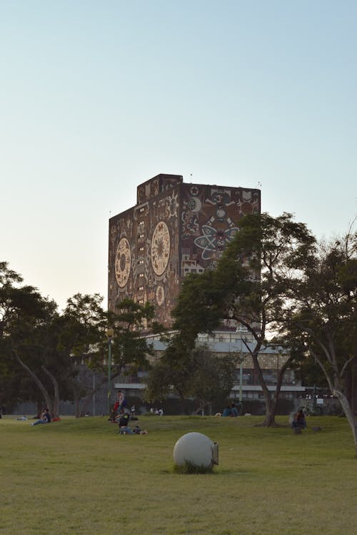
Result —
[[[311, 417], [301, 435], [260, 421], [141, 417], [149, 434], [132, 436], [101, 417], [36, 427], [3, 417], [0, 534], [354, 535], [346, 419]], [[174, 472], [174, 444], [190, 431], [218, 442], [213, 474]]]

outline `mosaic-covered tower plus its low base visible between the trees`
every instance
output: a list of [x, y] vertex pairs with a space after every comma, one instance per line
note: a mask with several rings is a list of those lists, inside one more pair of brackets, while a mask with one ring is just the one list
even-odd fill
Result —
[[[216, 267], [223, 250], [238, 232], [244, 215], [261, 212], [261, 192], [257, 189], [221, 185], [183, 183], [181, 175], [157, 175], [137, 187], [136, 205], [109, 220], [109, 310], [125, 297], [155, 305], [156, 320], [171, 327], [171, 310], [181, 282], [188, 273], [202, 273]], [[213, 338], [199, 335], [216, 355], [238, 352], [241, 366], [236, 370], [232, 399], [261, 402], [251, 355], [243, 343], [252, 342], [248, 332], [232, 322], [223, 322]], [[156, 358], [165, 349], [163, 342], [147, 334]], [[275, 389], [278, 370], [286, 355], [266, 349], [259, 357], [269, 389]], [[145, 373], [116, 379], [115, 388], [140, 396]], [[295, 384], [288, 372], [281, 398], [296, 401], [304, 388]], [[263, 410], [263, 409], [262, 409]]]

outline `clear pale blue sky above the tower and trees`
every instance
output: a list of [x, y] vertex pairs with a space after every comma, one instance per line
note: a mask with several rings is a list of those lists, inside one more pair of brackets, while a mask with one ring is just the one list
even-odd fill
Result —
[[109, 218], [159, 173], [345, 233], [356, 65], [356, 1], [0, 0], [0, 261], [106, 306]]

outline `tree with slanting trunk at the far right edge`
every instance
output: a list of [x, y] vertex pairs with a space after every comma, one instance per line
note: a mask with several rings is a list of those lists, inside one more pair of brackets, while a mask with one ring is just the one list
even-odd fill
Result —
[[[291, 284], [288, 336], [313, 357], [341, 403], [357, 455], [357, 233], [320, 244], [303, 278]], [[356, 382], [354, 383], [356, 385]]]

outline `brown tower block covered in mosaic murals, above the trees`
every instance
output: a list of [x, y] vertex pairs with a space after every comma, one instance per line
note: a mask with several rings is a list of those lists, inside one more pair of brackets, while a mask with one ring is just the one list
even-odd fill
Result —
[[150, 301], [170, 327], [183, 277], [215, 267], [238, 220], [260, 210], [257, 189], [183, 183], [181, 175], [146, 180], [136, 205], [109, 220], [109, 310], [124, 297]]

